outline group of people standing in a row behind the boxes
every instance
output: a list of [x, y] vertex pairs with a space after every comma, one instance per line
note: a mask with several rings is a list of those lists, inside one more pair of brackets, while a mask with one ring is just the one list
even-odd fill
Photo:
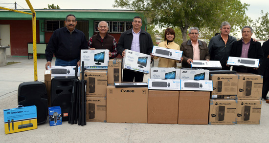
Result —
[[[67, 15], [65, 20], [66, 27], [59, 28], [52, 34], [45, 50], [47, 63], [45, 68], [51, 66], [53, 54], [56, 57], [55, 65], [74, 66], [80, 65], [81, 49], [108, 49], [110, 59], [120, 54], [122, 57], [126, 54], [126, 49], [151, 55], [153, 41], [149, 33], [141, 29], [142, 19], [134, 17], [133, 28], [123, 32], [118, 43], [115, 38], [108, 34], [109, 25], [106, 21], [98, 24], [98, 33], [90, 38], [87, 42], [83, 32], [75, 29], [77, 24], [76, 17], [72, 14]], [[220, 61], [223, 70], [230, 70], [226, 64], [228, 57], [242, 57], [260, 60], [260, 68], [242, 68], [233, 67], [237, 72], [248, 72], [261, 74], [264, 76], [264, 87], [262, 98], [266, 99], [269, 90], [269, 41], [261, 46], [261, 43], [253, 40], [252, 28], [245, 26], [242, 28], [242, 39], [237, 41], [236, 38], [229, 35], [231, 25], [224, 21], [220, 26], [221, 33], [214, 36], [207, 46], [206, 42], [198, 40], [199, 29], [190, 27], [190, 40], [182, 42], [181, 45], [175, 43], [175, 31], [172, 28], [165, 30], [165, 38], [158, 46], [169, 49], [183, 51], [180, 61], [161, 58], [151, 55], [152, 60], [159, 58], [158, 67], [177, 67], [177, 62], [181, 62], [182, 67], [190, 68], [193, 60], [212, 60]], [[265, 59], [265, 60], [264, 60]], [[264, 62], [263, 62], [264, 60]], [[133, 70], [123, 70], [123, 82], [142, 82], [144, 74]]]

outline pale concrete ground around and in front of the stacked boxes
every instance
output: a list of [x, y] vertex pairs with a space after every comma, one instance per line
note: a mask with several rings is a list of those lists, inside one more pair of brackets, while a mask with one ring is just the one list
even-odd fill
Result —
[[[3, 109], [18, 104], [18, 86], [34, 81], [33, 59], [0, 67], [0, 143], [268, 143], [269, 104], [262, 101], [261, 122], [255, 125], [182, 125], [148, 123], [94, 123], [86, 126], [68, 124], [38, 125], [38, 129], [5, 134]], [[52, 61], [54, 63], [55, 61]], [[38, 81], [44, 82], [45, 59], [37, 60]], [[149, 75], [145, 76], [149, 78]]]

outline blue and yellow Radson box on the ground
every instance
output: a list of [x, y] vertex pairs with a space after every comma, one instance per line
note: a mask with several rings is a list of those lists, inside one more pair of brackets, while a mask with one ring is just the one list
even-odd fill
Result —
[[37, 110], [35, 105], [4, 109], [3, 114], [5, 134], [37, 128]]

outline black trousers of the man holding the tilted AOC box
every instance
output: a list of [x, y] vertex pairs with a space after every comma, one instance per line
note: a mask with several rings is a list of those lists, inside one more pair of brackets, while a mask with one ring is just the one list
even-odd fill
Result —
[[124, 69], [122, 73], [122, 82], [143, 82], [144, 73]]

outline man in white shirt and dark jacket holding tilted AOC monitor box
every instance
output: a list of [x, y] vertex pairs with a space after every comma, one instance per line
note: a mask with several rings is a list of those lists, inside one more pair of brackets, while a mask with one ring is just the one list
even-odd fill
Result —
[[[153, 42], [149, 33], [141, 29], [142, 19], [134, 17], [133, 28], [123, 32], [120, 35], [117, 51], [124, 57], [126, 49], [135, 52], [151, 55]], [[124, 69], [122, 74], [122, 82], [143, 82], [144, 74], [129, 69]]]

